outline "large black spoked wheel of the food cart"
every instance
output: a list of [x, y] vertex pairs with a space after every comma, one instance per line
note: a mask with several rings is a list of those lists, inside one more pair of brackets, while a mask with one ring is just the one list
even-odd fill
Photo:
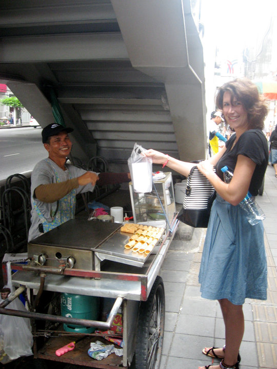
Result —
[[141, 302], [137, 326], [135, 368], [158, 368], [165, 327], [165, 290], [160, 276], [157, 276], [147, 301]]

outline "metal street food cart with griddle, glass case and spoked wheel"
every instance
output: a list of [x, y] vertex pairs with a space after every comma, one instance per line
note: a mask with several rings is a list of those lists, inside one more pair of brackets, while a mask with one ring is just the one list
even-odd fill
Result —
[[[135, 233], [126, 232], [122, 223], [76, 217], [29, 242], [27, 263], [12, 263], [16, 271], [11, 276], [12, 284], [18, 288], [17, 294], [28, 291], [30, 309], [19, 312], [7, 306], [0, 308], [0, 313], [32, 319], [35, 358], [109, 369], [128, 368], [134, 361], [137, 368], [159, 366], [165, 321], [165, 294], [159, 272], [178, 221], [171, 173], [156, 181], [154, 188], [159, 202], [147, 200], [150, 195], [155, 198], [155, 193], [134, 194], [130, 183], [137, 223], [127, 224], [135, 225]], [[153, 220], [154, 214], [158, 219]], [[144, 230], [159, 234], [152, 250], [139, 253], [126, 248], [131, 236], [140, 237]], [[93, 296], [112, 304], [104, 319], [103, 311], [98, 319], [63, 315], [58, 309], [61, 294]], [[121, 331], [110, 331], [118, 315]], [[65, 326], [93, 330], [80, 333]], [[122, 356], [112, 353], [98, 361], [88, 355], [91, 342], [108, 343], [105, 337], [111, 340], [118, 336], [122, 336]], [[56, 355], [56, 350], [72, 341], [76, 342], [74, 350]]]

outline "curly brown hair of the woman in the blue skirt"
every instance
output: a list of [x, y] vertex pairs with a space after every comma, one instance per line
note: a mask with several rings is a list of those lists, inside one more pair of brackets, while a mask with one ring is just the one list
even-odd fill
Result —
[[225, 83], [217, 91], [215, 103], [219, 109], [223, 109], [223, 95], [230, 92], [231, 102], [236, 98], [240, 101], [245, 110], [249, 126], [251, 129], [264, 128], [264, 120], [267, 116], [267, 103], [265, 98], [259, 94], [256, 85], [248, 78], [236, 78]]

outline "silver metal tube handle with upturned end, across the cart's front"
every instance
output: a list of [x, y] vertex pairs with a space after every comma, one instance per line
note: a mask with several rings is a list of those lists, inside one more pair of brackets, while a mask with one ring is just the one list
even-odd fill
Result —
[[78, 318], [67, 318], [63, 316], [50, 315], [50, 314], [42, 314], [42, 313], [33, 313], [28, 311], [21, 310], [13, 310], [13, 309], [5, 309], [0, 308], [0, 314], [3, 315], [12, 315], [23, 318], [31, 318], [38, 320], [50, 320], [54, 322], [66, 323], [66, 324], [76, 324], [88, 327], [99, 327], [100, 329], [109, 330], [112, 322], [118, 312], [123, 301], [123, 297], [118, 296], [112, 306], [109, 317], [106, 322], [98, 321], [98, 320], [88, 320], [88, 319], [78, 319]]

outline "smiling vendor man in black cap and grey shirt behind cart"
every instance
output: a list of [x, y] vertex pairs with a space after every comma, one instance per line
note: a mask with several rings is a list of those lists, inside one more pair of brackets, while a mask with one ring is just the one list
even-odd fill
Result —
[[52, 123], [42, 131], [48, 158], [39, 161], [31, 176], [31, 227], [28, 241], [74, 218], [76, 195], [97, 185], [128, 182], [129, 173], [95, 173], [67, 164], [71, 141], [66, 128]]

